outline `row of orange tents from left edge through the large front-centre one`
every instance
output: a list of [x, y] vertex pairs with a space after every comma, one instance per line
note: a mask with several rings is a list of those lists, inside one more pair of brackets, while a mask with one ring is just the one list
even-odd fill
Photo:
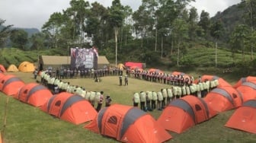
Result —
[[67, 92], [53, 95], [41, 84], [25, 84], [14, 75], [1, 72], [0, 91], [75, 125], [91, 121], [85, 126], [86, 129], [117, 141], [160, 143], [172, 138], [151, 115], [133, 106], [114, 104], [97, 113], [91, 103], [79, 95]]

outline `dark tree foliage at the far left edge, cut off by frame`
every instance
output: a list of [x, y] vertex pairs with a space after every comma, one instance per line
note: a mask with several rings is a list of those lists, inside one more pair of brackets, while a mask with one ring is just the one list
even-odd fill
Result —
[[11, 27], [13, 25], [3, 26], [5, 24], [5, 20], [0, 19], [0, 48], [5, 46], [6, 40], [8, 40], [8, 37], [11, 34]]

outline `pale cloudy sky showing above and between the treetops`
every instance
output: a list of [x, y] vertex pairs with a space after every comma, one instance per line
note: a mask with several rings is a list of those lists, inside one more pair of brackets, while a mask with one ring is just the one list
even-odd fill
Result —
[[[110, 7], [112, 0], [88, 0], [98, 2], [104, 7]], [[141, 0], [120, 0], [122, 5], [129, 5], [136, 11]], [[190, 2], [197, 8], [197, 13], [207, 11], [213, 17], [217, 11], [224, 11], [229, 6], [238, 4], [241, 0], [196, 0]], [[4, 25], [13, 24], [14, 27], [41, 29], [54, 12], [62, 12], [69, 8], [69, 0], [0, 0], [0, 18], [5, 20]]]

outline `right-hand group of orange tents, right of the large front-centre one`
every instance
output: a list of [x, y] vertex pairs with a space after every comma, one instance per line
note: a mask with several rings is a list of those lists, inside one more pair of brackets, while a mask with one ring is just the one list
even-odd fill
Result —
[[187, 95], [173, 100], [157, 122], [169, 131], [182, 133], [218, 113], [237, 109], [225, 126], [256, 133], [256, 77], [241, 78], [232, 86], [217, 76], [202, 76], [203, 81], [213, 79], [219, 85], [206, 97]]

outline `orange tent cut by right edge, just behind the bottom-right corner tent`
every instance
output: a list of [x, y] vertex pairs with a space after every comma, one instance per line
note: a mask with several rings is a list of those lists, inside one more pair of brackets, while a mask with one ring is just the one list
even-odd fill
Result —
[[236, 88], [242, 94], [243, 101], [256, 99], [256, 83], [245, 81]]

